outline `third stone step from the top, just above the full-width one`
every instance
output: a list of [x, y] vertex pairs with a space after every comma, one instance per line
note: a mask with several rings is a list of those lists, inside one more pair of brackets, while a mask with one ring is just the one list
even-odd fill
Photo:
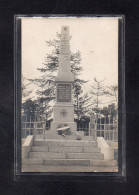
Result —
[[29, 157], [47, 159], [95, 159], [103, 160], [101, 153], [55, 153], [55, 152], [29, 152]]

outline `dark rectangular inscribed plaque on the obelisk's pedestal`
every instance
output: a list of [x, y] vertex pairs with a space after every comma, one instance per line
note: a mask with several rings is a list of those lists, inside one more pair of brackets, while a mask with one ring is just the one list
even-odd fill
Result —
[[57, 101], [71, 102], [71, 84], [57, 84]]

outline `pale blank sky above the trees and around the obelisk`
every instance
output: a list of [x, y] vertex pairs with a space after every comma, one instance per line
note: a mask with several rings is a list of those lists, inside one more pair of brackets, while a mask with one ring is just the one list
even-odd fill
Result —
[[89, 80], [83, 86], [84, 91], [90, 88], [94, 77], [105, 79], [105, 85], [118, 84], [117, 17], [23, 17], [22, 75], [26, 78], [40, 76], [37, 68], [43, 67], [45, 56], [50, 52], [45, 41], [53, 40], [63, 25], [69, 26], [72, 35], [71, 51], [81, 52], [80, 78]]

